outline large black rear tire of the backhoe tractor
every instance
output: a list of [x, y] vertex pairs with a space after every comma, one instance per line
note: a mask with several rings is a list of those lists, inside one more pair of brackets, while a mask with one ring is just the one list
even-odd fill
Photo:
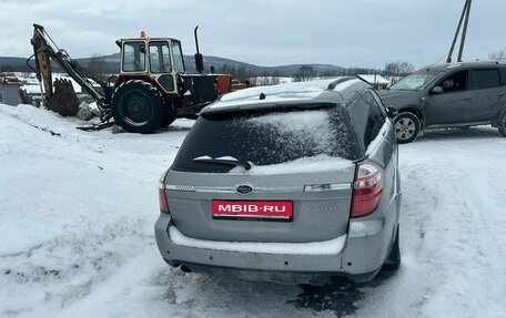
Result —
[[121, 84], [111, 101], [115, 123], [131, 133], [156, 131], [164, 120], [162, 107], [163, 100], [156, 88], [136, 80]]

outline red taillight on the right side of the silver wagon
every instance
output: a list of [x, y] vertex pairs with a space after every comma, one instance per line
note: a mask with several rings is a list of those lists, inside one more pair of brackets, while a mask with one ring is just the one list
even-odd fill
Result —
[[357, 164], [353, 182], [351, 217], [372, 214], [382, 198], [383, 168], [373, 162]]

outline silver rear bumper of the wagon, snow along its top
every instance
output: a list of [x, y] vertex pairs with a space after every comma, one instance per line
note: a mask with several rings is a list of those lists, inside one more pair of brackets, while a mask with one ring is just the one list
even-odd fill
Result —
[[[160, 214], [154, 229], [160, 253], [171, 266], [182, 265], [184, 270], [225, 274], [249, 280], [313, 284], [315, 279], [335, 275], [351, 276], [355, 281], [372, 279], [382, 267], [393, 240], [394, 219], [352, 220], [348, 235], [342, 237], [343, 243], [334, 253], [328, 253], [330, 249], [325, 248], [324, 253], [320, 253], [318, 243], [311, 243], [316, 245], [314, 252], [302, 248], [297, 254], [292, 253], [293, 249], [281, 249], [276, 253], [280, 244], [272, 244], [271, 250], [231, 250], [229, 246], [234, 243], [226, 243], [227, 246], [221, 248], [212, 242], [192, 238], [184, 240], [184, 237], [183, 240], [181, 237], [173, 239], [171, 216], [163, 213]], [[181, 242], [184, 242], [184, 245], [181, 245]], [[340, 240], [331, 243], [340, 244]]]

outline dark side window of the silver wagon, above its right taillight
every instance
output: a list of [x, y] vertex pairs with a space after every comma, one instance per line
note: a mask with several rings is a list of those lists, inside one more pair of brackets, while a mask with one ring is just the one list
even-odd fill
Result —
[[367, 148], [385, 123], [383, 105], [378, 104], [371, 92], [364, 92], [350, 107], [357, 137], [363, 142], [364, 148]]

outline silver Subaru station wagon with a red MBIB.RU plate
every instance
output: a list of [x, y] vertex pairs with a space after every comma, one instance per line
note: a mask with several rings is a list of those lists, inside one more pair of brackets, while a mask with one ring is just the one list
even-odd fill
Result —
[[354, 78], [222, 96], [160, 179], [163, 259], [185, 273], [314, 285], [398, 268], [395, 114]]

